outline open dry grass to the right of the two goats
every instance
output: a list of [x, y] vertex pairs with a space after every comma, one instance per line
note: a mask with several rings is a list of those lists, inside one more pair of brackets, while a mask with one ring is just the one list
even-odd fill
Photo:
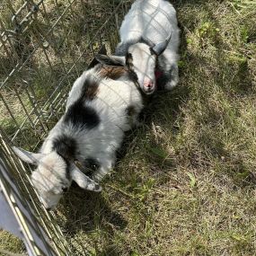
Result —
[[180, 84], [154, 95], [101, 194], [62, 200], [77, 254], [255, 254], [256, 3], [173, 2]]

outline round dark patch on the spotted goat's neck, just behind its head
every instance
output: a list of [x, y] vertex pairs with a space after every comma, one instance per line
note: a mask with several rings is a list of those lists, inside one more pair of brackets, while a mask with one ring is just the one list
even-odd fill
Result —
[[53, 148], [57, 154], [61, 155], [66, 161], [74, 160], [77, 151], [76, 141], [73, 137], [60, 135], [53, 140]]

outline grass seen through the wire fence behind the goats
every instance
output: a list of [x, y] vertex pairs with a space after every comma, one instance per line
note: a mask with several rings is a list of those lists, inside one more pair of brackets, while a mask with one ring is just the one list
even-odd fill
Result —
[[[25, 127], [31, 128], [34, 137], [38, 141], [41, 140], [42, 135], [45, 136], [46, 133], [40, 126], [35, 128], [33, 125], [37, 117], [37, 113], [33, 111], [34, 105], [37, 105], [36, 109], [42, 110], [42, 119], [53, 116], [48, 123], [44, 122], [45, 127], [51, 128], [56, 123], [56, 118], [59, 118], [59, 111], [64, 110], [63, 96], [90, 64], [93, 52], [97, 52], [101, 48], [101, 42], [105, 40], [109, 40], [106, 43], [108, 48], [113, 44], [111, 37], [106, 39], [106, 34], [111, 34], [113, 26], [96, 35], [102, 21], [109, 18], [113, 1], [72, 2], [75, 4], [67, 8], [70, 2], [65, 0], [44, 1], [40, 4], [40, 12], [33, 16], [34, 22], [30, 29], [22, 35], [10, 37], [5, 41], [4, 47], [2, 44], [0, 46], [1, 82], [11, 73], [13, 66], [25, 62], [22, 69], [13, 72], [8, 82], [1, 86], [5, 104], [0, 101], [0, 119], [4, 120], [4, 130], [10, 137], [13, 137], [13, 130], [20, 128], [19, 125], [30, 113], [30, 119], [25, 120]], [[21, 4], [22, 1], [13, 1], [13, 9], [17, 11]], [[12, 12], [8, 4], [2, 6], [1, 21], [6, 30], [12, 31], [15, 28], [10, 21]], [[17, 15], [17, 22], [21, 22], [27, 13], [27, 8], [24, 8]], [[24, 29], [25, 26], [22, 26], [21, 31]], [[93, 37], [96, 39], [93, 40]], [[77, 61], [79, 57], [80, 60]], [[53, 100], [56, 101], [52, 103]], [[28, 113], [23, 109], [21, 102]], [[6, 105], [10, 110], [7, 110]], [[18, 125], [13, 122], [9, 111], [13, 113], [14, 119], [18, 120]], [[24, 140], [26, 138], [20, 134], [16, 142], [18, 145], [30, 146], [29, 141], [20, 143]]]

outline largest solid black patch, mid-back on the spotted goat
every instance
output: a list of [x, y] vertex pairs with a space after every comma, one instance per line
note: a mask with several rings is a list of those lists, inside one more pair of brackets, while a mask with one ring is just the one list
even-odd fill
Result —
[[66, 111], [64, 122], [73, 124], [77, 128], [92, 129], [99, 125], [100, 117], [93, 108], [84, 106], [82, 99], [72, 104]]

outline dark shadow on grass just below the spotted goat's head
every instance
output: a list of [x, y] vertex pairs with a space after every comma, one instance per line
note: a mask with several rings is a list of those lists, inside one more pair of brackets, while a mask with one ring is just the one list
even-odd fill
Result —
[[[127, 223], [117, 212], [110, 209], [109, 203], [102, 193], [95, 193], [80, 189], [73, 184], [61, 204], [61, 214], [66, 216], [68, 234], [75, 234], [77, 230], [92, 232], [98, 226], [110, 232], [110, 225], [122, 230]], [[108, 225], [106, 225], [108, 224]], [[64, 227], [64, 229], [66, 230]]]

